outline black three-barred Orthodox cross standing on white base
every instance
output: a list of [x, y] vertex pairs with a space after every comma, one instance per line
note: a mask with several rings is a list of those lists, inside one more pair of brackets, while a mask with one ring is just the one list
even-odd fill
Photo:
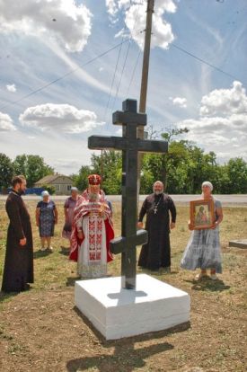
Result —
[[110, 251], [121, 253], [122, 287], [136, 288], [136, 246], [147, 243], [146, 230], [137, 231], [137, 160], [138, 153], [166, 153], [166, 141], [137, 138], [137, 128], [146, 126], [146, 114], [137, 112], [137, 101], [126, 100], [122, 111], [112, 115], [114, 125], [122, 126], [122, 137], [91, 136], [90, 149], [107, 148], [122, 151], [122, 230], [119, 238], [110, 242]]

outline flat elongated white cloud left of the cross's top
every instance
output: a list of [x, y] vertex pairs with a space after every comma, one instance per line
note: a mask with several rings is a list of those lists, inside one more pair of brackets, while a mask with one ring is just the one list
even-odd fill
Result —
[[26, 109], [19, 117], [23, 126], [64, 133], [83, 133], [103, 123], [93, 111], [78, 110], [69, 104], [46, 103]]

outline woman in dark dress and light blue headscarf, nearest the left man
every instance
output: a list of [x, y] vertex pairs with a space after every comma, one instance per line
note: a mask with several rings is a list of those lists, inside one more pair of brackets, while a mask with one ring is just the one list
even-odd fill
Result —
[[[41, 193], [42, 200], [36, 208], [36, 225], [40, 230], [41, 251], [53, 251], [50, 246], [51, 236], [54, 235], [54, 225], [57, 224], [57, 208], [54, 201], [49, 199], [49, 191]], [[45, 244], [47, 242], [47, 247]]]

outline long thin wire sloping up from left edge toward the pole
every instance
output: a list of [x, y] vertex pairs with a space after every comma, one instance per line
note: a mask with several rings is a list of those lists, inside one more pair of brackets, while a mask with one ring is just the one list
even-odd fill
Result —
[[61, 76], [57, 77], [57, 79], [52, 80], [52, 81], [49, 82], [48, 84], [45, 84], [45, 85], [41, 86], [40, 88], [38, 88], [38, 89], [32, 91], [31, 93], [28, 93], [28, 94], [23, 95], [23, 96], [22, 96], [21, 98], [19, 98], [18, 100], [13, 101], [13, 102], [9, 102], [9, 103], [5, 104], [4, 106], [0, 107], [0, 110], [3, 110], [3, 109], [5, 109], [5, 108], [8, 107], [8, 106], [12, 106], [12, 105], [15, 104], [15, 103], [19, 103], [19, 102], [25, 100], [26, 98], [31, 97], [31, 95], [33, 95], [33, 94], [40, 93], [40, 92], [43, 91], [44, 89], [48, 88], [50, 85], [52, 85], [52, 84], [56, 84], [58, 81], [65, 79], [66, 76], [74, 74], [76, 71], [80, 70], [80, 69], [83, 68], [84, 66], [87, 66], [87, 65], [91, 64], [91, 63], [92, 63], [93, 61], [95, 61], [96, 59], [99, 59], [99, 58], [105, 56], [106, 54], [110, 53], [110, 51], [119, 48], [120, 45], [126, 43], [128, 40], [130, 40], [130, 38], [128, 38], [127, 40], [124, 40], [124, 41], [119, 42], [119, 44], [115, 45], [114, 47], [112, 47], [112, 48], [110, 48], [110, 49], [105, 50], [104, 52], [102, 52], [102, 53], [99, 54], [98, 56], [96, 56], [96, 57], [90, 59], [89, 61], [85, 62], [83, 65], [78, 66], [78, 67], [74, 68], [73, 70], [67, 72], [65, 75], [61, 75]]

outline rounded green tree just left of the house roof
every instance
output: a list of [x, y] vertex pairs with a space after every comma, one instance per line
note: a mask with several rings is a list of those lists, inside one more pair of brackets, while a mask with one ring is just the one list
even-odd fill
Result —
[[14, 173], [25, 175], [28, 187], [32, 187], [46, 175], [54, 173], [54, 169], [46, 164], [40, 155], [17, 155], [13, 161], [13, 168]]

